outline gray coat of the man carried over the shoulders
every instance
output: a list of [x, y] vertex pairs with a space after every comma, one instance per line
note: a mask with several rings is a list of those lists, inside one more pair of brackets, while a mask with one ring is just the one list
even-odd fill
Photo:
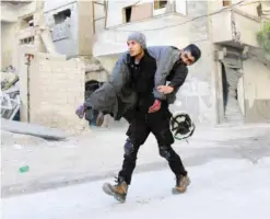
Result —
[[[171, 46], [148, 47], [149, 55], [156, 60], [155, 88], [153, 94], [156, 99], [167, 100], [169, 104], [176, 100], [179, 88], [171, 94], [164, 95], [157, 91], [159, 85], [166, 84], [166, 77], [175, 62], [179, 60], [179, 49]], [[117, 61], [108, 82], [96, 90], [84, 103], [85, 106], [113, 114], [116, 120], [132, 108], [137, 102], [137, 94], [130, 88], [130, 72], [128, 69], [129, 56], [125, 53]]]

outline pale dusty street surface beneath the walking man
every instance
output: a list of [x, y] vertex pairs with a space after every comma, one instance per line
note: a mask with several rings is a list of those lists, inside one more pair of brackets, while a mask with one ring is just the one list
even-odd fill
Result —
[[[103, 131], [58, 146], [32, 139], [35, 146], [3, 147], [4, 158], [16, 159], [2, 161], [3, 218], [269, 218], [269, 126], [221, 128], [212, 135], [198, 131], [189, 145], [177, 143], [191, 184], [186, 194], [176, 196], [171, 194], [174, 176], [154, 139], [149, 139], [126, 204], [102, 191], [120, 166], [125, 136], [108, 130], [104, 138]], [[28, 172], [20, 173], [25, 164]]]

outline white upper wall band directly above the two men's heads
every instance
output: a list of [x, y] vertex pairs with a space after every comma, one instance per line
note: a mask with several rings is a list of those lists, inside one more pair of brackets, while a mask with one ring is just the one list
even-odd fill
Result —
[[[130, 1], [117, 1], [108, 5], [107, 26], [110, 28], [99, 33], [98, 37], [95, 38], [93, 47], [95, 57], [125, 51], [127, 37], [133, 31], [145, 34], [148, 46], [174, 45], [181, 48], [191, 42], [209, 39], [207, 18], [187, 22], [191, 18], [208, 13], [206, 1], [188, 0], [187, 4], [183, 5], [185, 8], [183, 13], [161, 14], [143, 21], [118, 25], [122, 23], [121, 9], [130, 4]], [[185, 15], [186, 11], [187, 15]]]

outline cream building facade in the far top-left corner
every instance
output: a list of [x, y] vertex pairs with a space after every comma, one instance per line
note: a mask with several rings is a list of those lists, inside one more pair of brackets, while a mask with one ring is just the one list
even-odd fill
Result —
[[39, 1], [1, 2], [1, 67], [17, 69], [22, 45], [34, 45], [34, 13], [39, 10]]

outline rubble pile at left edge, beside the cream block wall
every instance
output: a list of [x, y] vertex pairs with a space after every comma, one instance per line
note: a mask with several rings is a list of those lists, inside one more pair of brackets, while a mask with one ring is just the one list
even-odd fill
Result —
[[[9, 71], [9, 72], [8, 72]], [[21, 101], [19, 76], [13, 68], [8, 68], [7, 72], [1, 72], [1, 117], [14, 119], [19, 115]]]

